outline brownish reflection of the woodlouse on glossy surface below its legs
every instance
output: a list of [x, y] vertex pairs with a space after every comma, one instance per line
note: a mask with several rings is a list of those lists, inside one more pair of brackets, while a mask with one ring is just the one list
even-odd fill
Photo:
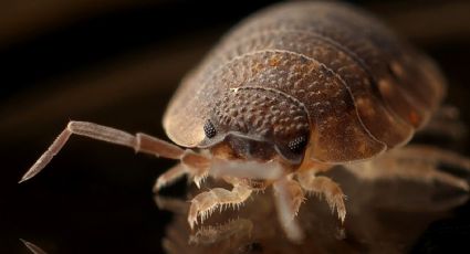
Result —
[[[341, 224], [328, 205], [307, 199], [297, 220], [306, 232], [303, 244], [285, 237], [275, 216], [270, 193], [259, 193], [240, 209], [215, 213], [205, 225], [191, 231], [186, 222], [187, 202], [157, 197], [156, 202], [175, 214], [163, 246], [167, 253], [408, 253], [422, 230], [443, 220], [449, 209], [468, 201], [468, 195], [442, 186], [406, 181], [362, 181], [342, 168], [328, 172], [348, 193], [348, 215]], [[208, 182], [207, 186], [217, 186]], [[198, 193], [192, 190], [192, 194]], [[410, 195], [409, 193], [414, 193]], [[419, 203], [419, 205], [416, 205]]]

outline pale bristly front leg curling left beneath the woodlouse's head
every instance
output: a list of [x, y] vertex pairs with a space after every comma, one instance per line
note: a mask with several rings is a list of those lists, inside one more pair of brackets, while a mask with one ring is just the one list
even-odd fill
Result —
[[188, 222], [190, 227], [195, 227], [198, 218], [202, 223], [218, 208], [222, 210], [224, 207], [239, 207], [250, 197], [251, 192], [252, 190], [248, 187], [236, 184], [231, 191], [215, 188], [196, 195], [189, 208]]

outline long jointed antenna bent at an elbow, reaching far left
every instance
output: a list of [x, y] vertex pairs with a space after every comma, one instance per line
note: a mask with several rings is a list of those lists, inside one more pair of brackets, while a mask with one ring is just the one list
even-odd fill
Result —
[[[199, 160], [203, 160], [201, 159], [202, 156], [198, 156], [194, 152], [191, 154], [191, 156], [188, 156], [190, 152], [185, 151], [180, 147], [146, 134], [138, 133], [136, 135], [132, 135], [123, 130], [93, 123], [72, 120], [69, 121], [66, 128], [62, 130], [62, 133], [55, 138], [55, 140], [48, 148], [48, 150], [23, 174], [20, 182], [27, 181], [38, 174], [62, 149], [62, 147], [66, 144], [72, 134], [130, 147], [136, 152], [146, 152], [164, 158], [179, 159], [181, 161], [187, 160], [187, 163], [199, 162], [197, 159], [195, 159], [195, 157], [200, 157]], [[188, 159], [187, 157], [191, 158]]]

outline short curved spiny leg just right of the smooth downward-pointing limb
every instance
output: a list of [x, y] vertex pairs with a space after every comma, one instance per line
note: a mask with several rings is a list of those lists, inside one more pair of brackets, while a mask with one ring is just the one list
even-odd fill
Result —
[[342, 222], [346, 218], [345, 195], [340, 186], [327, 177], [317, 177], [313, 170], [299, 172], [297, 180], [302, 188], [313, 193], [324, 194], [331, 210], [336, 210]]

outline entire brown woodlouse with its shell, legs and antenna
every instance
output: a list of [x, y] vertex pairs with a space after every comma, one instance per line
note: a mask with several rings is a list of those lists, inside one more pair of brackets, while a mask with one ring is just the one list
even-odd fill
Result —
[[[215, 209], [239, 205], [272, 184], [281, 224], [290, 239], [301, 240], [293, 218], [304, 191], [324, 194], [342, 221], [346, 215], [341, 188], [317, 174], [335, 165], [377, 166], [372, 158], [405, 145], [443, 94], [432, 62], [362, 11], [342, 3], [285, 3], [242, 22], [182, 82], [164, 126], [173, 141], [188, 149], [145, 134], [71, 121], [22, 181], [79, 134], [180, 160], [158, 178], [156, 190], [184, 174], [198, 187], [207, 176], [231, 183], [231, 191], [215, 188], [192, 199], [191, 227]], [[429, 154], [411, 151], [387, 155], [419, 161]], [[434, 157], [439, 158], [462, 165], [449, 154]], [[394, 173], [468, 189], [463, 180], [432, 167], [417, 174], [398, 168]]]

